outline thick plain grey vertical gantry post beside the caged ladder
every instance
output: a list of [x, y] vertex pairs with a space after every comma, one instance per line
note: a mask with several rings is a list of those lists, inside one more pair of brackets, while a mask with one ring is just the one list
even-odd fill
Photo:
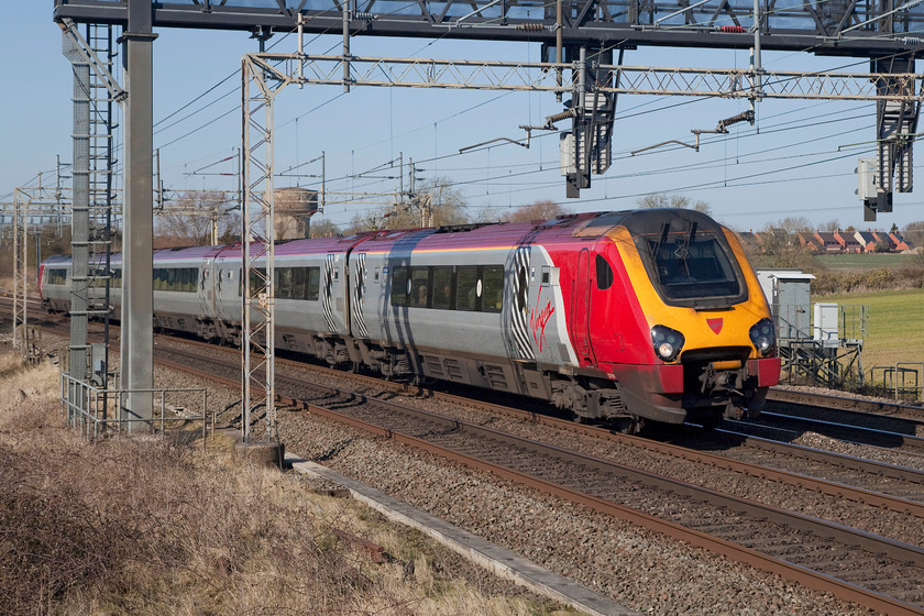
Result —
[[[153, 41], [150, 0], [129, 0], [129, 25], [121, 37], [125, 69], [125, 188], [122, 233], [122, 387], [154, 386], [153, 329]], [[150, 393], [129, 395], [122, 419], [151, 419]], [[144, 427], [144, 428], [141, 428]], [[132, 424], [130, 429], [150, 429]]]

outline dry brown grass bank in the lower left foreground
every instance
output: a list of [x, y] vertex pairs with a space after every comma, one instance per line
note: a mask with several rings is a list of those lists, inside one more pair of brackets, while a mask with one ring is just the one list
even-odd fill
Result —
[[163, 438], [89, 444], [53, 366], [0, 355], [0, 614], [552, 613], [298, 476]]

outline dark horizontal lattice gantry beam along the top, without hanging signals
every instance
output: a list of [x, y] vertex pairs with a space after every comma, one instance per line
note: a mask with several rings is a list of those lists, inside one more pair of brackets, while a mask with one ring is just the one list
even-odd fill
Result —
[[[345, 0], [352, 34], [556, 43], [747, 48], [754, 0]], [[156, 2], [153, 25], [339, 33], [338, 0], [186, 0]], [[125, 23], [119, 0], [56, 0], [56, 18]], [[766, 50], [877, 57], [916, 50], [924, 4], [914, 0], [760, 0]]]

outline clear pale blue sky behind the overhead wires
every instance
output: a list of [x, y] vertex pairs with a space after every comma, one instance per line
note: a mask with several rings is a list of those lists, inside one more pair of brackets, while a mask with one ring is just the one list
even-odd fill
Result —
[[[0, 201], [19, 186], [54, 182], [56, 156], [72, 160], [70, 65], [52, 21], [51, 0], [2, 0], [0, 38], [4, 96], [0, 97]], [[241, 144], [241, 56], [257, 51], [246, 33], [156, 30], [154, 42], [154, 145], [167, 195], [189, 189], [233, 190]], [[337, 54], [338, 35], [306, 35], [306, 53]], [[294, 35], [275, 35], [272, 51], [296, 51]], [[448, 59], [538, 62], [538, 44], [356, 36], [355, 55]], [[679, 53], [680, 52], [680, 53]], [[682, 62], [679, 62], [682, 58]], [[626, 52], [632, 66], [743, 67], [747, 51], [641, 47]], [[773, 70], [839, 68], [868, 72], [862, 58], [818, 58], [805, 53], [765, 52]], [[711, 130], [718, 120], [748, 109], [747, 101], [694, 97], [620, 96], [613, 164], [593, 176], [580, 199], [565, 198], [559, 172], [557, 133], [534, 134], [529, 148], [495, 142], [522, 140], [521, 124], [542, 124], [562, 111], [552, 94], [424, 90], [340, 86], [288, 87], [275, 99], [274, 184], [319, 187], [324, 155], [328, 204], [323, 218], [344, 224], [380, 205], [343, 204], [346, 194], [393, 193], [399, 188], [397, 160], [413, 160], [419, 180], [448, 180], [470, 212], [503, 213], [539, 200], [574, 212], [632, 208], [650, 193], [682, 195], [706, 202], [713, 216], [738, 230], [762, 229], [788, 217], [842, 228], [904, 228], [924, 221], [924, 187], [895, 194], [894, 211], [864, 222], [855, 195], [858, 157], [873, 155], [872, 102], [765, 100], [757, 123], [703, 135], [698, 152], [682, 145], [632, 151], [676, 140], [693, 143], [691, 130]], [[560, 124], [564, 128], [565, 123]], [[224, 160], [224, 161], [223, 161]], [[292, 170], [295, 169], [295, 170]], [[921, 168], [916, 172], [920, 174]]]

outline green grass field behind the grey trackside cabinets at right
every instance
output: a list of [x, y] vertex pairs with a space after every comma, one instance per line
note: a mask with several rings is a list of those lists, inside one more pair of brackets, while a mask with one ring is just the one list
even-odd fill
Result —
[[871, 366], [924, 362], [924, 289], [813, 296], [812, 301], [869, 306], [862, 353], [867, 374]]

